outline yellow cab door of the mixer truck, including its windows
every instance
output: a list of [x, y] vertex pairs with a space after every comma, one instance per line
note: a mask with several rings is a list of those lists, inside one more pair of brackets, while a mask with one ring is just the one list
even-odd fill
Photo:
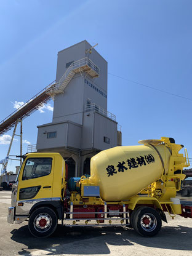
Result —
[[17, 201], [52, 199], [54, 158], [26, 158], [18, 177]]

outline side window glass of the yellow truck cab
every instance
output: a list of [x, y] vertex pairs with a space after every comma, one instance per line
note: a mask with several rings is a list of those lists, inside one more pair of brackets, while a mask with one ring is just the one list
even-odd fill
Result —
[[28, 158], [23, 170], [22, 180], [49, 175], [51, 166], [52, 158]]

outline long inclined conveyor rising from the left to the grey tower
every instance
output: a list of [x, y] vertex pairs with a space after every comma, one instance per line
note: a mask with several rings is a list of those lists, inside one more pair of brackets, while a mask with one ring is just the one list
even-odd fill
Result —
[[27, 116], [30, 116], [31, 113], [41, 108], [44, 103], [49, 102], [50, 95], [46, 94], [46, 90], [52, 86], [54, 86], [53, 82], [49, 84], [49, 86], [42, 89], [41, 92], [34, 95], [33, 98], [28, 100], [28, 102], [25, 102], [22, 106], [20, 106], [18, 110], [15, 110], [12, 114], [7, 116], [7, 118], [3, 119], [0, 122], [0, 134], [2, 135], [14, 127], [18, 119], [24, 119]]

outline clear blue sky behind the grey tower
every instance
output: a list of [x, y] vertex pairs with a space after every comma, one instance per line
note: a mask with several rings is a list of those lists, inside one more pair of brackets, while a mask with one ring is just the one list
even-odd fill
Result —
[[[122, 125], [123, 145], [173, 137], [191, 158], [191, 11], [190, 0], [1, 0], [0, 119], [54, 81], [59, 50], [86, 39], [108, 61], [108, 111]], [[52, 106], [23, 121], [24, 153], [36, 144], [36, 126], [52, 121]], [[7, 140], [0, 137], [0, 160]], [[15, 140], [10, 154], [19, 148]]]

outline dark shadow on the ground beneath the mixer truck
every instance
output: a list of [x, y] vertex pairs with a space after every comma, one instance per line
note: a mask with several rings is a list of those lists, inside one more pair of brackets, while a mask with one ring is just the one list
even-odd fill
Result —
[[102, 255], [110, 254], [108, 244], [134, 246], [135, 243], [161, 249], [192, 250], [192, 228], [186, 226], [164, 226], [153, 238], [143, 238], [132, 229], [114, 226], [70, 228], [58, 225], [55, 233], [44, 239], [34, 238], [28, 231], [28, 226], [22, 226], [11, 233], [12, 240], [28, 247], [18, 252], [19, 255], [36, 255], [33, 250], [45, 250], [41, 255]]

